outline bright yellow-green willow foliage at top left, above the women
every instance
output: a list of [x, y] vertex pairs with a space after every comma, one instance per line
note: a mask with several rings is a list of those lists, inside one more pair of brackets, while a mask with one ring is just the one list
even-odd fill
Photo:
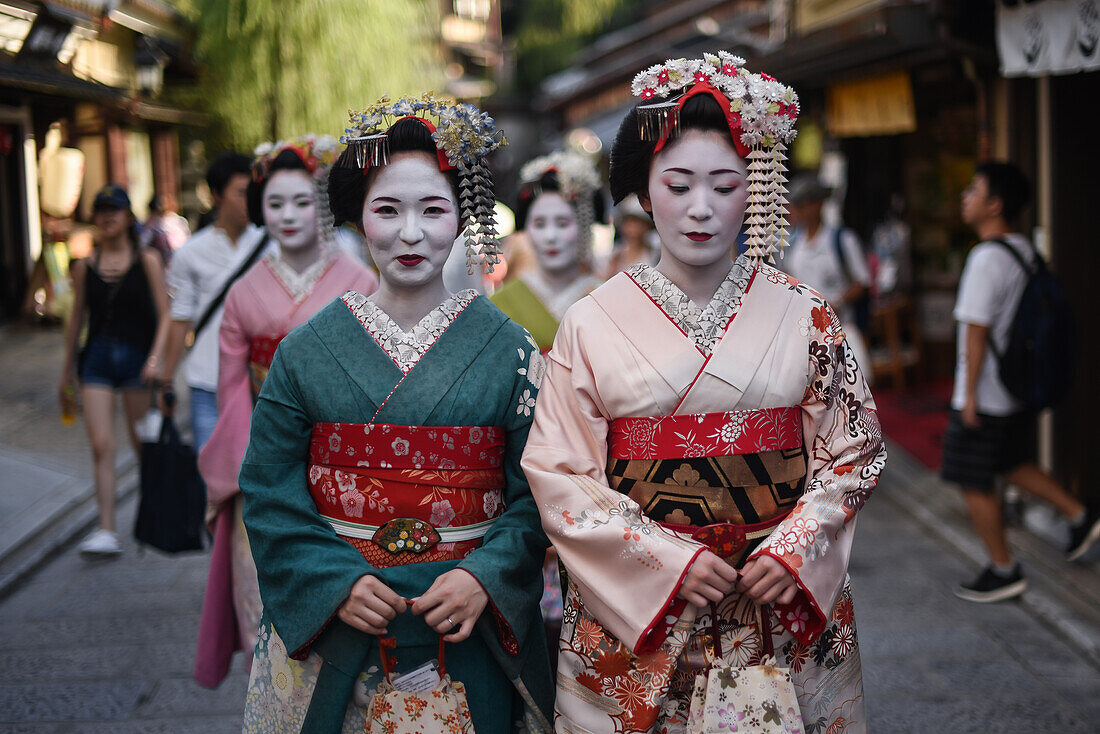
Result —
[[179, 0], [196, 24], [201, 103], [248, 150], [339, 135], [349, 108], [442, 88], [436, 6], [420, 0]]

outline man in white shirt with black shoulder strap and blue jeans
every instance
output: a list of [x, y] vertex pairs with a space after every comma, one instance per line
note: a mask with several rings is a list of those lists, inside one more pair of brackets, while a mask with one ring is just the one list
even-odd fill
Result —
[[[172, 384], [176, 366], [186, 351], [188, 333], [222, 293], [227, 281], [240, 270], [263, 240], [263, 230], [249, 221], [248, 188], [252, 158], [223, 153], [207, 171], [207, 184], [218, 216], [176, 251], [168, 269], [172, 291], [172, 327], [162, 382]], [[184, 374], [190, 388], [191, 430], [198, 451], [218, 421], [218, 328], [222, 305], [195, 335]]]

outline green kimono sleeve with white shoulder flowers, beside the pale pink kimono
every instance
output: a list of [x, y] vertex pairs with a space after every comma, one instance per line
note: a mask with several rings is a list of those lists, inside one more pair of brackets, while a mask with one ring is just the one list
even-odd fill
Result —
[[490, 609], [505, 650], [517, 655], [524, 646], [542, 594], [542, 558], [549, 547], [538, 506], [520, 468], [531, 427], [535, 398], [542, 376], [542, 355], [534, 341], [524, 342], [516, 368], [515, 388], [505, 429], [505, 510], [485, 534], [482, 545], [459, 568], [473, 574], [490, 596]]

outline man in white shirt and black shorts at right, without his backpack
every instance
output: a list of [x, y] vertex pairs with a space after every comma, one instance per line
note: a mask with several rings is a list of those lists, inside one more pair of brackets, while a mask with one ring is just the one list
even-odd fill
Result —
[[990, 566], [955, 593], [972, 602], [1018, 596], [1027, 585], [1004, 537], [998, 479], [1058, 510], [1070, 523], [1069, 560], [1100, 539], [1100, 512], [1087, 508], [1035, 463], [1036, 417], [1004, 386], [993, 350], [1003, 353], [1028, 274], [1005, 245], [1034, 262], [1038, 253], [1014, 231], [1031, 197], [1023, 172], [1007, 163], [978, 166], [963, 193], [963, 220], [980, 242], [970, 251], [955, 304], [958, 359], [941, 473], [958, 484]]

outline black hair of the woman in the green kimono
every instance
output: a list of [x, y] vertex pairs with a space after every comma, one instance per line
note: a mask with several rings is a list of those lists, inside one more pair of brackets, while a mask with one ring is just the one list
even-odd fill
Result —
[[[438, 149], [436, 141], [431, 139], [431, 131], [413, 118], [398, 120], [386, 133], [386, 150], [391, 156], [397, 153], [420, 152], [428, 153], [436, 160]], [[329, 207], [336, 218], [336, 226], [340, 227], [344, 222], [350, 222], [355, 227], [363, 224], [363, 204], [366, 200], [366, 191], [374, 179], [374, 172], [367, 171], [363, 175], [363, 169], [355, 166], [354, 156], [350, 149], [345, 149], [332, 171], [329, 172]], [[459, 204], [459, 172], [444, 171], [443, 175], [451, 185], [454, 194], [454, 202]], [[459, 223], [462, 226], [462, 222]]]

